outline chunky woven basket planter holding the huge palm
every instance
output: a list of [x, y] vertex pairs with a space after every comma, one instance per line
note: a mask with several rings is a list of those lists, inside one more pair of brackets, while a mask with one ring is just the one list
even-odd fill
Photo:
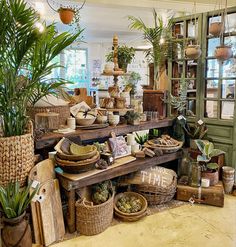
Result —
[[32, 134], [0, 137], [0, 154], [0, 185], [19, 181], [24, 186], [29, 171], [34, 166]]

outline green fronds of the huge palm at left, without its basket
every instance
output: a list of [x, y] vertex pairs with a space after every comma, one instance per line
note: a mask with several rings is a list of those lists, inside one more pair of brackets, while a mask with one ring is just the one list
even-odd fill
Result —
[[55, 24], [40, 24], [24, 0], [1, 0], [0, 16], [0, 122], [7, 137], [24, 134], [29, 104], [65, 85], [62, 79], [48, 79], [58, 67], [50, 62], [82, 31], [58, 34]]

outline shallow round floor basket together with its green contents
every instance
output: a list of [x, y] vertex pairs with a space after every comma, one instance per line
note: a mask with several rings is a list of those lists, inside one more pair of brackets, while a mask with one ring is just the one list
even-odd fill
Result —
[[136, 192], [124, 192], [115, 196], [115, 215], [123, 221], [137, 221], [147, 213], [147, 200]]

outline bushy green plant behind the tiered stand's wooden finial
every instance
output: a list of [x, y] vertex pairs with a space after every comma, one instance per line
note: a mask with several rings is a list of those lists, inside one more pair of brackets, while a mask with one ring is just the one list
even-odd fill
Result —
[[[133, 47], [128, 47], [126, 45], [118, 46], [118, 65], [125, 73], [127, 72], [128, 64], [131, 63], [135, 56], [135, 49]], [[106, 55], [107, 62], [113, 62], [114, 55], [113, 51]]]

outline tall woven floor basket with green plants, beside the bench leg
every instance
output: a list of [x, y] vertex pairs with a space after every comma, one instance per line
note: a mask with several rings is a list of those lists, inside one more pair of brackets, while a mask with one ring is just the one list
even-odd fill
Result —
[[95, 184], [88, 198], [78, 200], [76, 206], [76, 230], [83, 235], [101, 233], [113, 219], [114, 193], [111, 181]]

